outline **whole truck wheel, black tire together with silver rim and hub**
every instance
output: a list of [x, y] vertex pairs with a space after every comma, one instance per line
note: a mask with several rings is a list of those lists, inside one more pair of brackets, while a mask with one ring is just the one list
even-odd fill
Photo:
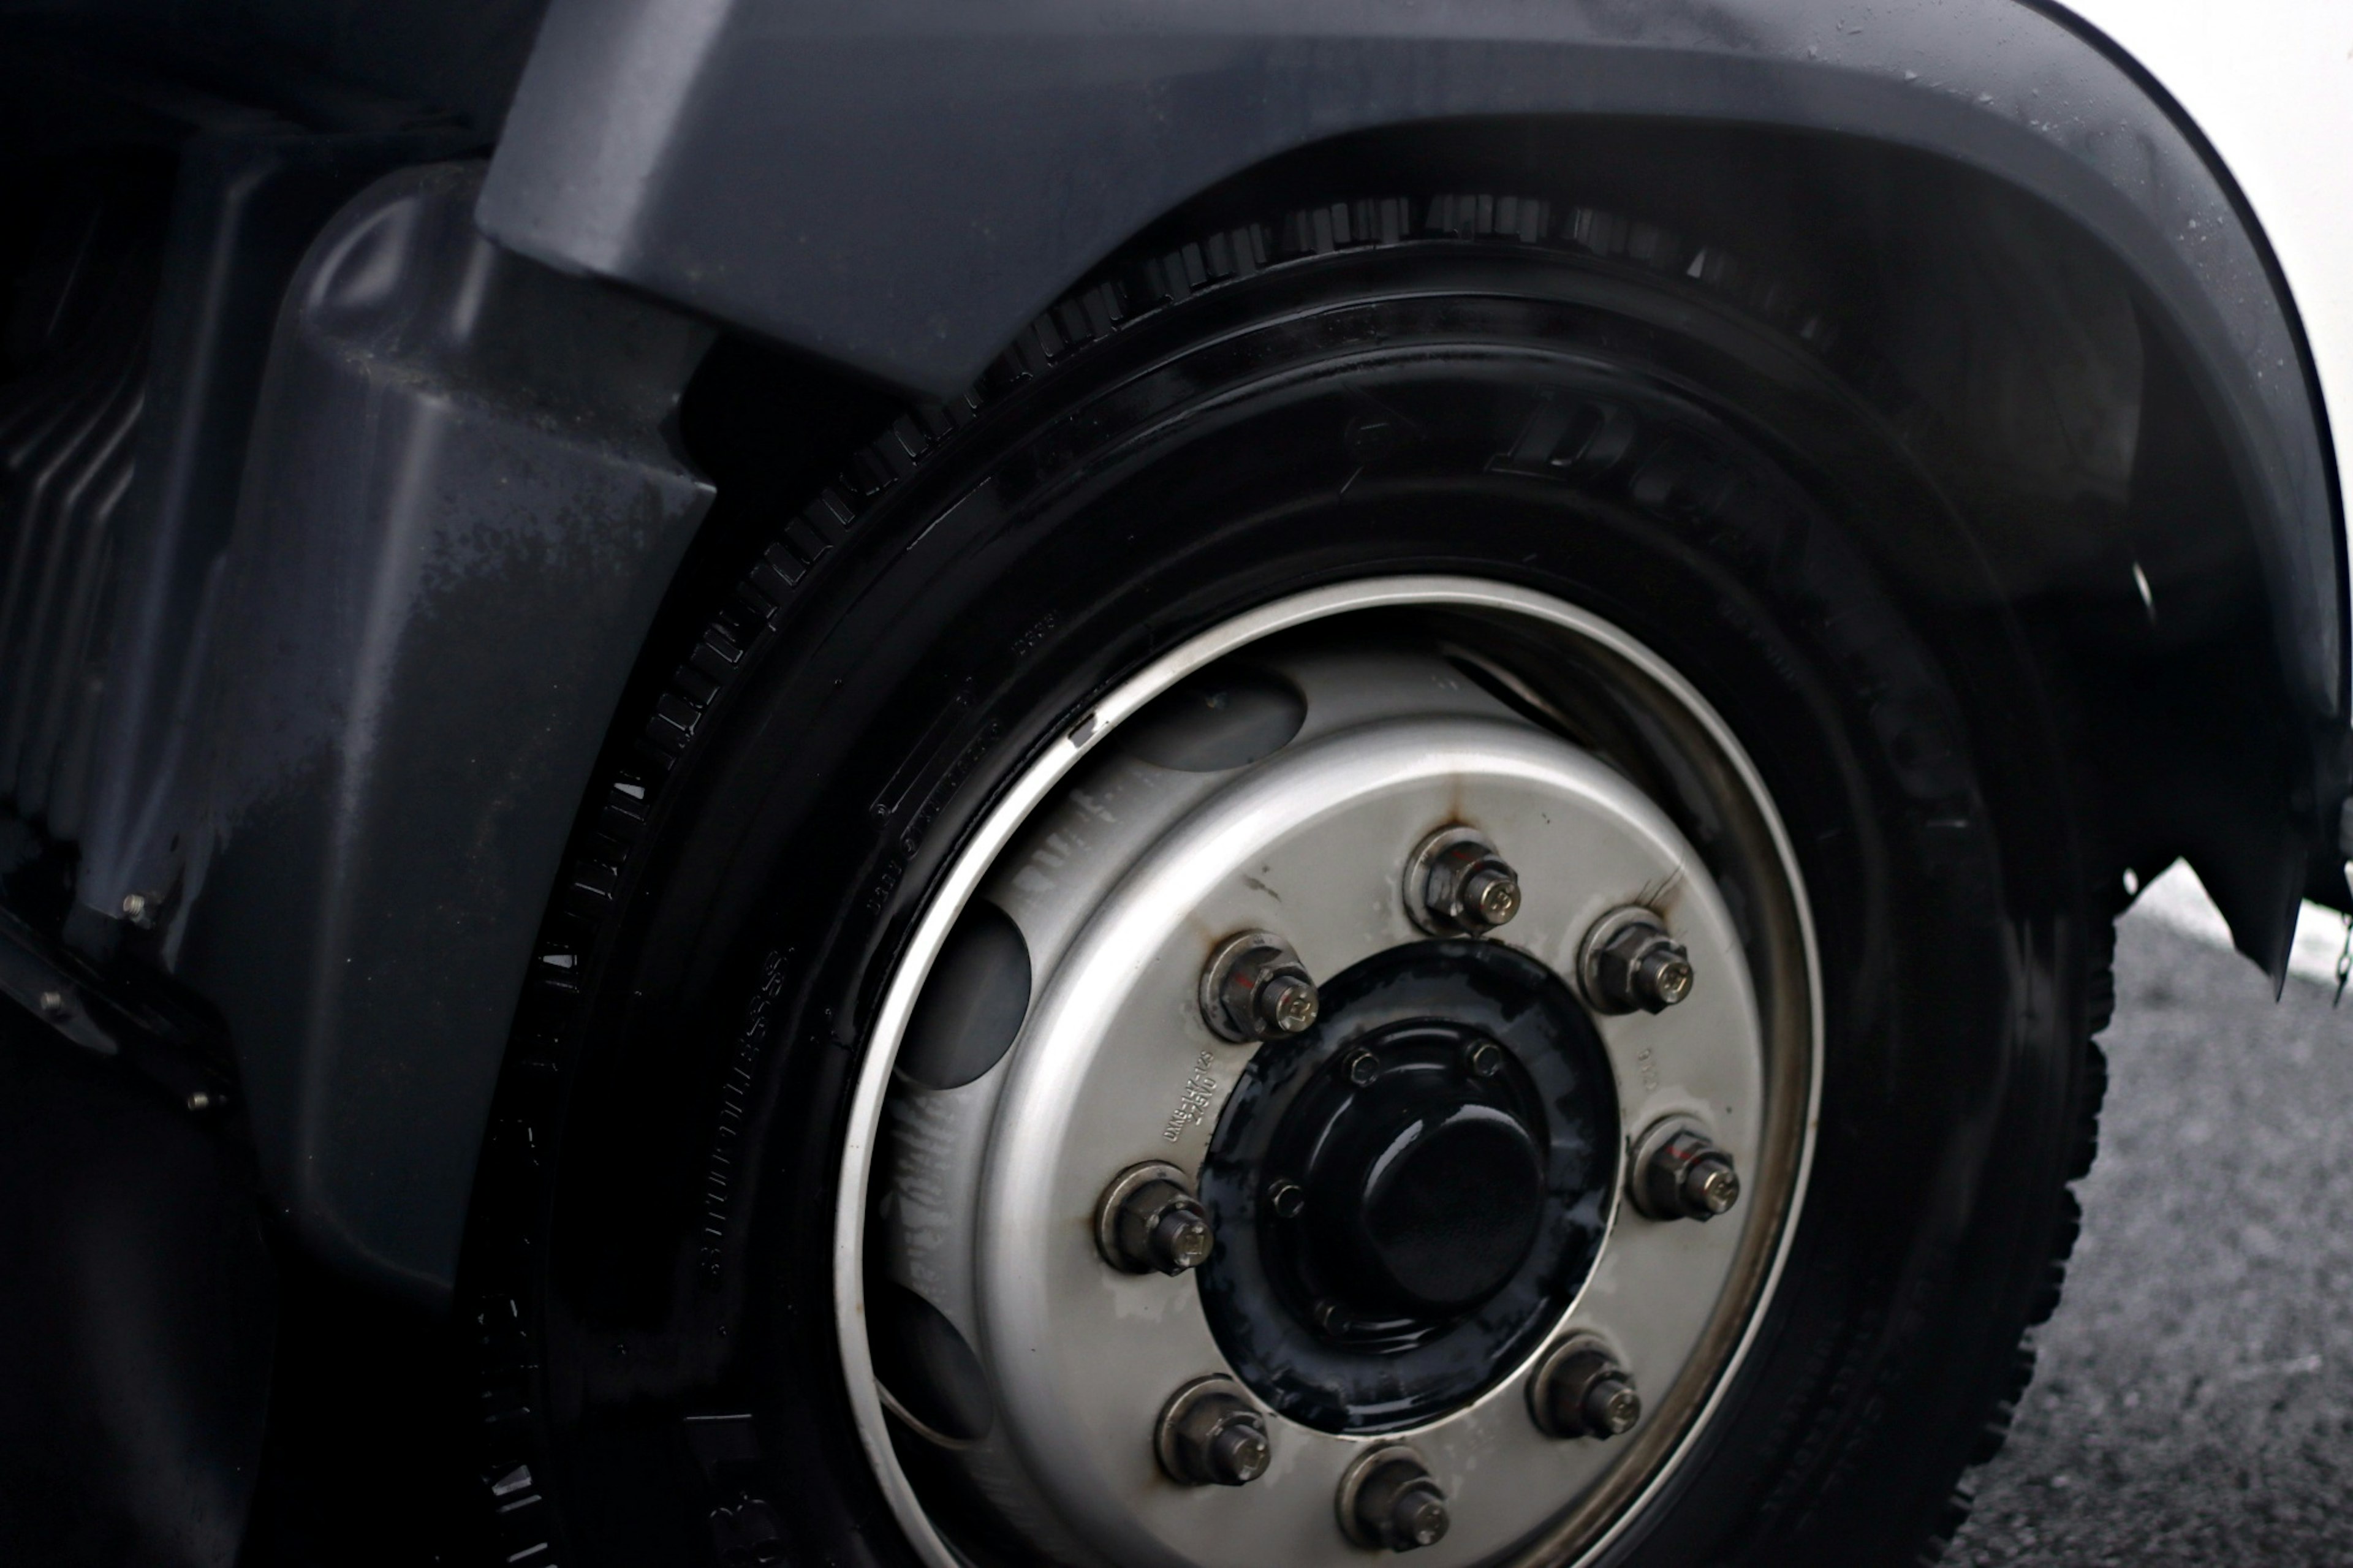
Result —
[[496, 1556], [1934, 1556], [2108, 925], [1821, 320], [1591, 210], [1294, 212], [776, 518], [501, 1081]]

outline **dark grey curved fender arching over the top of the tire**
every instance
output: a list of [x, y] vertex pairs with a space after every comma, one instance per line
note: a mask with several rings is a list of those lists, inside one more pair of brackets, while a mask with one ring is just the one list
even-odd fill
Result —
[[2278, 271], [2162, 92], [2040, 5], [555, 0], [478, 217], [551, 266], [946, 398], [1217, 181], [1473, 115], [1840, 132], [2073, 217], [2224, 428], [2294, 699], [2341, 713], [2344, 530]]

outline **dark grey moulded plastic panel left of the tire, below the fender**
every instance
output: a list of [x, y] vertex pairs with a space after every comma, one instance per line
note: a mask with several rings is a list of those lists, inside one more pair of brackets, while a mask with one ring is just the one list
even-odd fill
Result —
[[362, 191], [278, 320], [167, 951], [327, 1262], [447, 1302], [581, 779], [711, 501], [706, 327], [499, 252], [480, 165]]

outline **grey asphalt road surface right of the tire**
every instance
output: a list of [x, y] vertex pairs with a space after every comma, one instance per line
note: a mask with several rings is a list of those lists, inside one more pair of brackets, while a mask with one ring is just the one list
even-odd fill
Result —
[[2082, 1241], [1946, 1563], [2353, 1563], [2353, 996], [2146, 916]]

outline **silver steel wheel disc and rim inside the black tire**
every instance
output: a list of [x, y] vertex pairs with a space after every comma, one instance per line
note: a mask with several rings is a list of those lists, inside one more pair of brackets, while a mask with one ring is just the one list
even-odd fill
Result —
[[[1482, 626], [1548, 645], [1558, 678], [1640, 713], [1701, 782], [1713, 841], [1694, 845], [1626, 758], [1579, 744], [1489, 662]], [[1445, 833], [1511, 862], [1508, 923], [1433, 942], [1412, 888]], [[1628, 909], [1689, 954], [1687, 1001], [1621, 1012], [1593, 994], [1588, 939]], [[1431, 991], [1374, 1017], [1348, 1001], [1367, 982], [1297, 1038], [1226, 1038], [1205, 965], [1249, 932], [1318, 982], [1400, 963], [1471, 975], [1485, 954], [1567, 1012], [1539, 1029], [1515, 1022], [1532, 1001], [1480, 1012]], [[1548, 1088], [1515, 1099], [1449, 1055], [1489, 1036], [1506, 1048], [1482, 1057], [1489, 1083]], [[1562, 1088], [1579, 1050], [1598, 1050], [1591, 1104]], [[1586, 1556], [1689, 1446], [1769, 1300], [1817, 1059], [1795, 862], [1729, 730], [1652, 655], [1468, 579], [1374, 579], [1228, 622], [1012, 786], [885, 994], [835, 1217], [842, 1361], [885, 1493], [936, 1563], [958, 1561], [951, 1540], [1073, 1563], [1346, 1563], [1362, 1547], [1337, 1497], [1407, 1439], [1452, 1516], [1417, 1561]], [[1325, 1107], [1311, 1132], [1329, 1161], [1278, 1158], [1297, 1137], [1266, 1132], [1278, 1111], [1259, 1099], [1289, 1107], [1301, 1085], [1322, 1085], [1304, 1104]], [[1633, 1165], [1678, 1128], [1741, 1172], [1739, 1205], [1706, 1224], [1628, 1203]], [[1099, 1201], [1139, 1163], [1205, 1184], [1219, 1248], [1249, 1257], [1111, 1267]], [[1537, 1187], [1511, 1175], [1522, 1165]], [[1313, 1177], [1318, 1224], [1261, 1212], [1292, 1168]], [[1513, 1201], [1539, 1220], [1449, 1236], [1478, 1217], [1449, 1208], [1464, 1172], [1522, 1182]], [[1452, 1220], [1393, 1217], [1424, 1212]], [[1301, 1248], [1320, 1262], [1294, 1267]], [[1252, 1269], [1280, 1281], [1238, 1288]], [[1386, 1340], [1384, 1311], [1402, 1326]], [[1631, 1431], [1562, 1439], [1532, 1420], [1532, 1377], [1581, 1344], [1640, 1384]], [[1247, 1486], [1179, 1483], [1155, 1448], [1172, 1394], [1202, 1377], [1231, 1380], [1264, 1424]]]

